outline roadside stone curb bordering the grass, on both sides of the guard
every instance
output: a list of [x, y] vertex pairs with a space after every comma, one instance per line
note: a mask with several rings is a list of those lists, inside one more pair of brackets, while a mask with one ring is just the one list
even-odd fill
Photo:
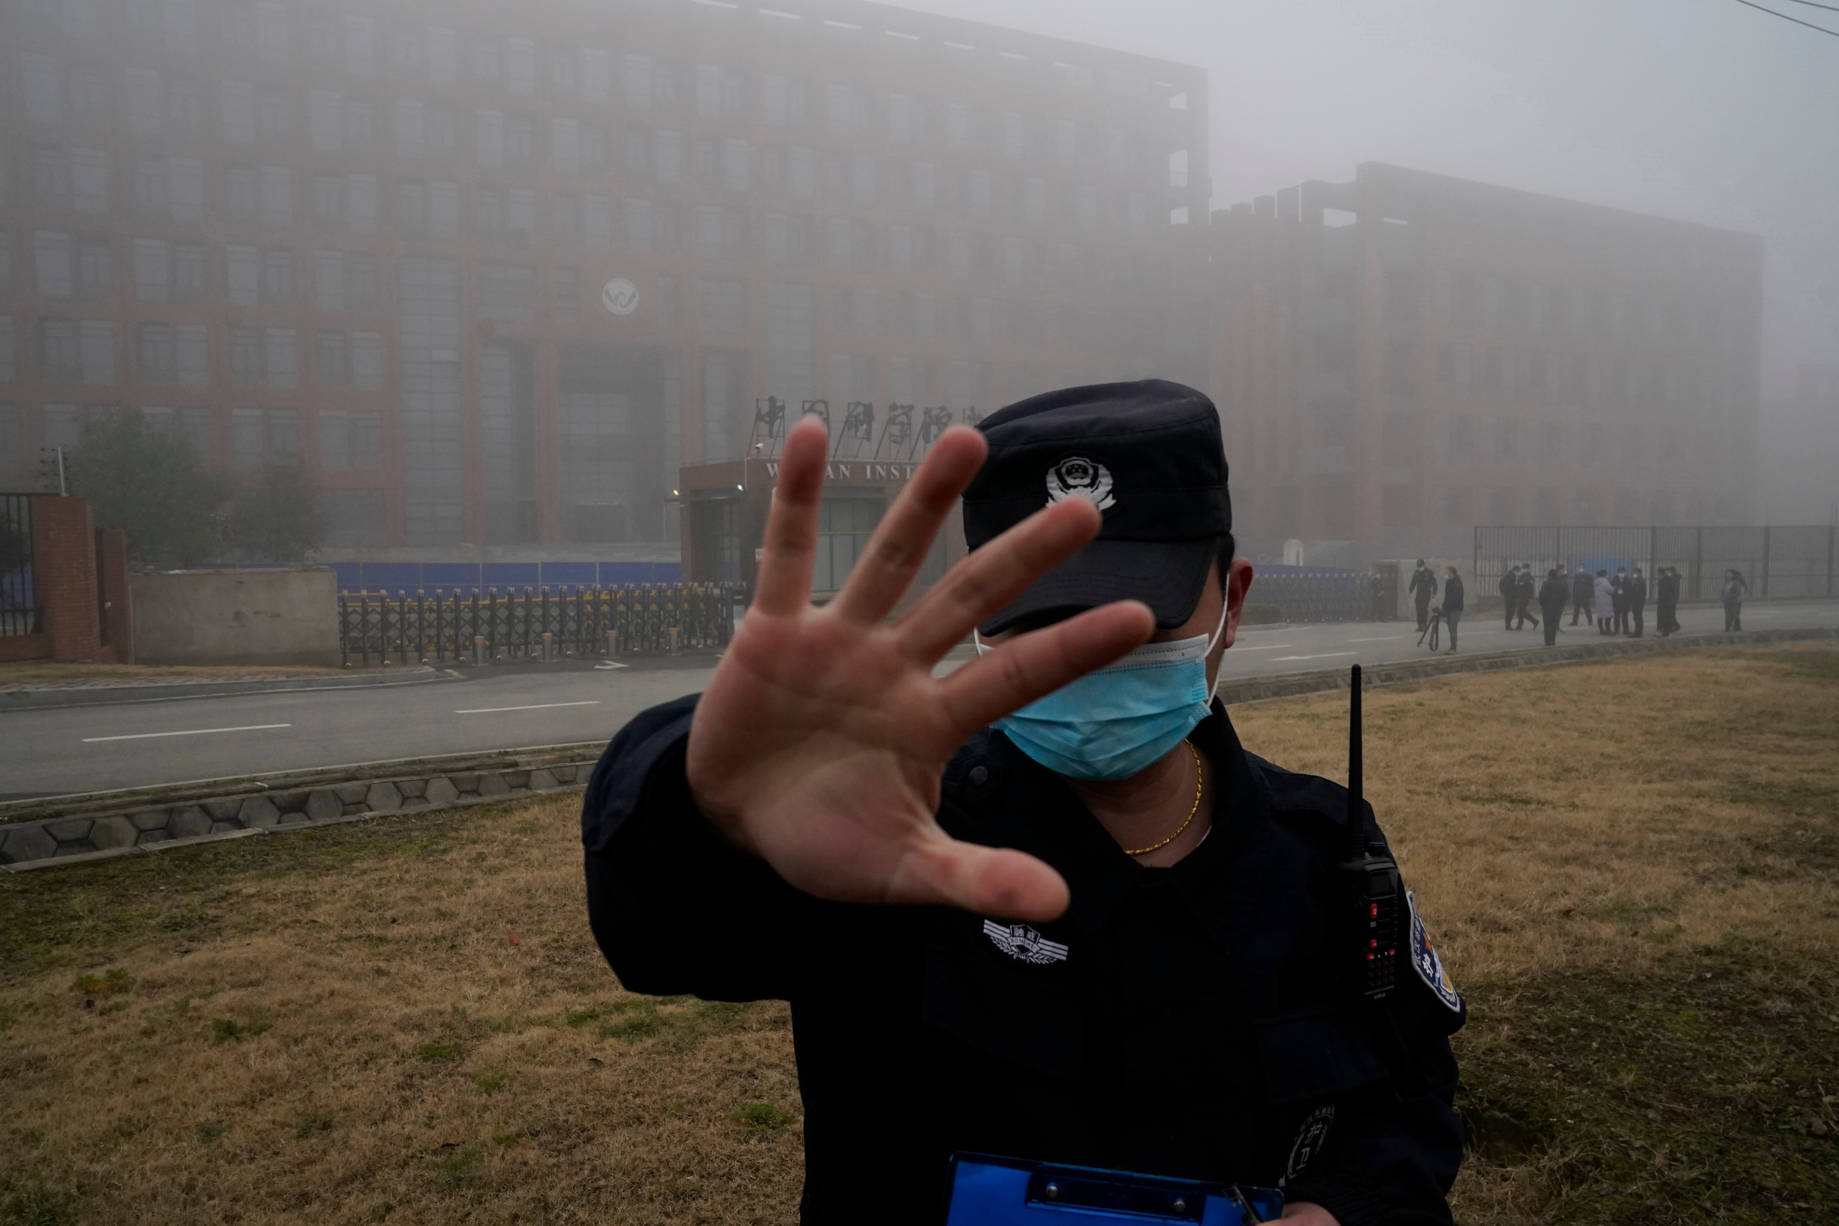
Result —
[[[1434, 656], [1363, 667], [1363, 689], [1451, 676], [1620, 656], [1651, 656], [1703, 647], [1817, 641], [1839, 630], [1743, 630], [1688, 638], [1620, 640]], [[1282, 673], [1225, 682], [1225, 706], [1346, 689], [1342, 669]], [[395, 759], [270, 776], [202, 779], [121, 792], [0, 803], [0, 871], [94, 864], [167, 847], [189, 847], [259, 833], [362, 822], [394, 812], [460, 809], [587, 785], [605, 741], [550, 744], [493, 754]]]

